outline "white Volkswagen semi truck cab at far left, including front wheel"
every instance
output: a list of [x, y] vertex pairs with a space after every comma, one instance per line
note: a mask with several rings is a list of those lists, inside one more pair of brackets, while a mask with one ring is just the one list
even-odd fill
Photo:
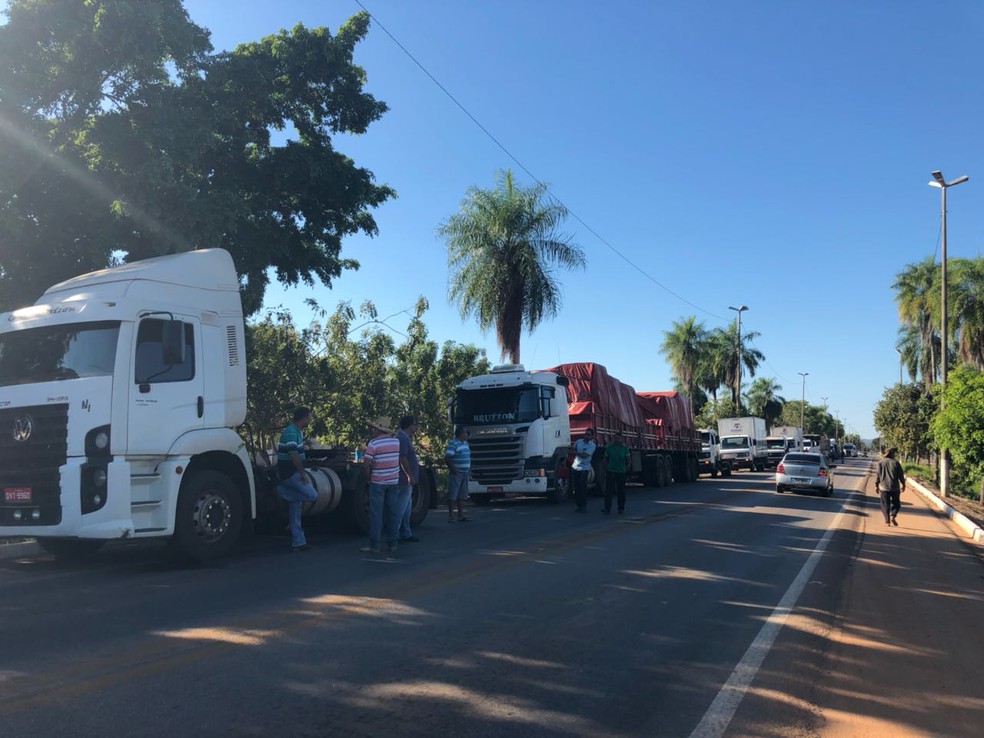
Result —
[[0, 315], [0, 537], [226, 553], [255, 512], [234, 430], [243, 333], [221, 249], [86, 274]]

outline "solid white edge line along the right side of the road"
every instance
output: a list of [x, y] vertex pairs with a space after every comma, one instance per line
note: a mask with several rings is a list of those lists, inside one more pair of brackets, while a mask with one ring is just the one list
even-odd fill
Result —
[[720, 738], [724, 735], [724, 731], [728, 729], [731, 719], [738, 711], [738, 706], [745, 698], [745, 692], [748, 691], [748, 687], [755, 679], [755, 675], [758, 674], [758, 670], [772, 649], [772, 644], [775, 643], [779, 631], [785, 625], [786, 618], [789, 616], [793, 607], [796, 606], [796, 601], [806, 588], [807, 582], [810, 581], [813, 570], [820, 563], [820, 557], [827, 550], [827, 544], [830, 543], [834, 531], [840, 527], [841, 520], [844, 517], [844, 506], [847, 505], [851, 495], [855, 492], [855, 490], [846, 491], [848, 495], [841, 503], [841, 509], [837, 513], [837, 517], [834, 518], [830, 527], [827, 528], [827, 531], [823, 534], [823, 538], [820, 539], [817, 547], [810, 554], [810, 558], [803, 564], [800, 573], [796, 575], [796, 579], [789, 585], [786, 594], [783, 595], [779, 604], [776, 605], [776, 609], [769, 615], [769, 619], [765, 621], [762, 630], [755, 636], [752, 645], [745, 651], [745, 655], [742, 656], [741, 661], [738, 662], [734, 671], [731, 672], [731, 676], [728, 677], [728, 681], [721, 687], [721, 691], [718, 692], [711, 706], [707, 708], [707, 712], [704, 713], [704, 717], [701, 718], [697, 727], [690, 734], [690, 738]]

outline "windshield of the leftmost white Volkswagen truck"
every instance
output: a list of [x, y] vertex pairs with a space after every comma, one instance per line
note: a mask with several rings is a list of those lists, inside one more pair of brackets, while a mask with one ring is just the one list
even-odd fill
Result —
[[0, 334], [0, 386], [111, 375], [119, 332], [106, 321]]

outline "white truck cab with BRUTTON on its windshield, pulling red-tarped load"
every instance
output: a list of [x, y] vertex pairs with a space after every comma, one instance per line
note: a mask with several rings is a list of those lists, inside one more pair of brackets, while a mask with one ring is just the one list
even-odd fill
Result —
[[497, 366], [458, 385], [456, 425], [468, 431], [468, 492], [482, 502], [508, 494], [563, 498], [571, 428], [566, 377]]

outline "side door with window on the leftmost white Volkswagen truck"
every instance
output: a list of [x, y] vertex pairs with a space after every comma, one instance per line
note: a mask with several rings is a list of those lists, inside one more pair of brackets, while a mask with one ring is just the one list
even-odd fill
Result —
[[156, 313], [138, 323], [129, 378], [128, 454], [163, 456], [179, 436], [202, 427], [201, 340], [201, 324], [191, 317]]

